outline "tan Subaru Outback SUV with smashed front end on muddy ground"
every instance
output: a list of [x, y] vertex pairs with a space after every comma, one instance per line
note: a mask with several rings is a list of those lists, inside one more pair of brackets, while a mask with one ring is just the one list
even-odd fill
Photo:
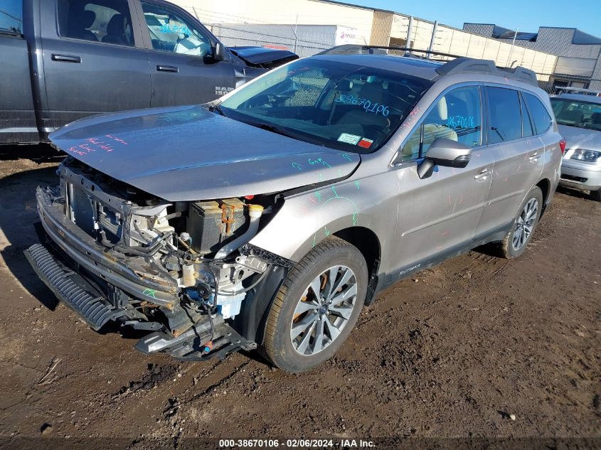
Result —
[[551, 111], [522, 68], [326, 51], [208, 105], [51, 134], [68, 157], [26, 255], [144, 353], [309, 370], [399, 279], [489, 242], [521, 255], [559, 181]]

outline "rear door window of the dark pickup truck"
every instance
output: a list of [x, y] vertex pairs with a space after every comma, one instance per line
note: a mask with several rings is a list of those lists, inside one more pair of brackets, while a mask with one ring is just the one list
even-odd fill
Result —
[[59, 0], [58, 34], [117, 45], [134, 45], [127, 0]]

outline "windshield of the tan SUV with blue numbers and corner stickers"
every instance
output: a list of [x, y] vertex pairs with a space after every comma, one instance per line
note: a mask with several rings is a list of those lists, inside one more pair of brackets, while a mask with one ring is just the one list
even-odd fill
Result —
[[430, 85], [403, 73], [312, 58], [236, 91], [220, 112], [294, 139], [365, 154], [388, 141]]

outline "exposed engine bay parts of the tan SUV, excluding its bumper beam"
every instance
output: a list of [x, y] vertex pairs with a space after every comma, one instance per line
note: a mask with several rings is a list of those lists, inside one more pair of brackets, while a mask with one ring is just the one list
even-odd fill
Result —
[[177, 337], [208, 322], [211, 342], [218, 323], [238, 316], [248, 292], [281, 263], [248, 245], [277, 210], [275, 195], [169, 203], [70, 158], [58, 175], [53, 203], [105, 255], [142, 280], [176, 286], [172, 301], [159, 301], [151, 290], [139, 296], [92, 274], [107, 299], [127, 311], [124, 326]]

